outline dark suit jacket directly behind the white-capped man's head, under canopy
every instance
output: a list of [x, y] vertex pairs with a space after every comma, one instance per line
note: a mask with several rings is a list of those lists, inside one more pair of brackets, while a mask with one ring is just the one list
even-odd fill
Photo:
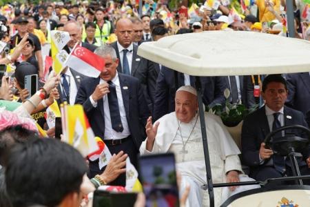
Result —
[[[181, 82], [180, 72], [178, 73], [178, 86], [175, 85], [174, 70], [163, 66], [159, 72], [156, 82], [156, 93], [154, 100], [154, 120], [157, 120], [163, 115], [174, 111], [174, 97], [176, 90], [183, 86]], [[191, 83], [195, 78], [190, 76]], [[224, 90], [227, 88], [225, 77], [200, 77], [202, 85], [203, 103], [206, 106], [213, 107], [216, 104], [225, 102]]]

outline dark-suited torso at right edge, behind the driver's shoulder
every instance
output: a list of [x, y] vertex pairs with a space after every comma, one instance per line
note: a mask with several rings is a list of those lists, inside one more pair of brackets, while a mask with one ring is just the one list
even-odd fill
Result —
[[[306, 117], [310, 111], [310, 75], [309, 72], [291, 73], [286, 75], [287, 88], [287, 106], [300, 110]], [[310, 126], [310, 123], [308, 122]]]

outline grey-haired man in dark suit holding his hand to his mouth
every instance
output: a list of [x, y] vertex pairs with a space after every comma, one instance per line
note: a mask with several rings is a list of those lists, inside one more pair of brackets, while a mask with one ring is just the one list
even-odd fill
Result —
[[[105, 141], [112, 155], [123, 150], [136, 166], [150, 115], [141, 84], [135, 77], [117, 72], [119, 60], [114, 48], [105, 45], [95, 53], [105, 59], [105, 68], [100, 77], [82, 81], [76, 103], [83, 104], [94, 135]], [[98, 160], [90, 161], [90, 177], [102, 171]], [[125, 175], [121, 175], [114, 185], [125, 185]]]

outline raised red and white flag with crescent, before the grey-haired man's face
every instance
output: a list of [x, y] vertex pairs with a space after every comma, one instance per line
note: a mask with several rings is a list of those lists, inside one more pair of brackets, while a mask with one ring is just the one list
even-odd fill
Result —
[[105, 60], [86, 48], [76, 46], [65, 62], [65, 66], [88, 77], [99, 77], [105, 66]]

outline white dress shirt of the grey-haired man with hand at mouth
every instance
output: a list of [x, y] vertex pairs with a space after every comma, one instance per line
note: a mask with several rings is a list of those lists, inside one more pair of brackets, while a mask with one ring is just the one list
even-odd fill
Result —
[[[123, 96], [122, 96], [122, 91], [121, 91], [121, 85], [119, 83], [117, 72], [116, 72], [116, 76], [111, 81], [116, 86], [116, 95], [117, 95], [119, 112], [121, 115], [121, 121], [123, 124], [123, 132], [116, 132], [114, 129], [112, 129], [109, 101], [108, 101], [107, 95], [104, 95], [103, 96], [103, 111], [105, 115], [105, 137], [104, 137], [105, 140], [123, 139], [130, 135], [130, 128], [127, 122], [126, 111], [125, 111], [125, 106], [124, 106]], [[101, 83], [106, 83], [106, 82], [103, 79], [100, 79], [99, 84]], [[92, 96], [90, 96], [90, 102], [92, 103], [92, 106], [94, 106], [94, 108], [97, 107], [97, 102], [94, 101], [94, 99], [92, 99]]]

